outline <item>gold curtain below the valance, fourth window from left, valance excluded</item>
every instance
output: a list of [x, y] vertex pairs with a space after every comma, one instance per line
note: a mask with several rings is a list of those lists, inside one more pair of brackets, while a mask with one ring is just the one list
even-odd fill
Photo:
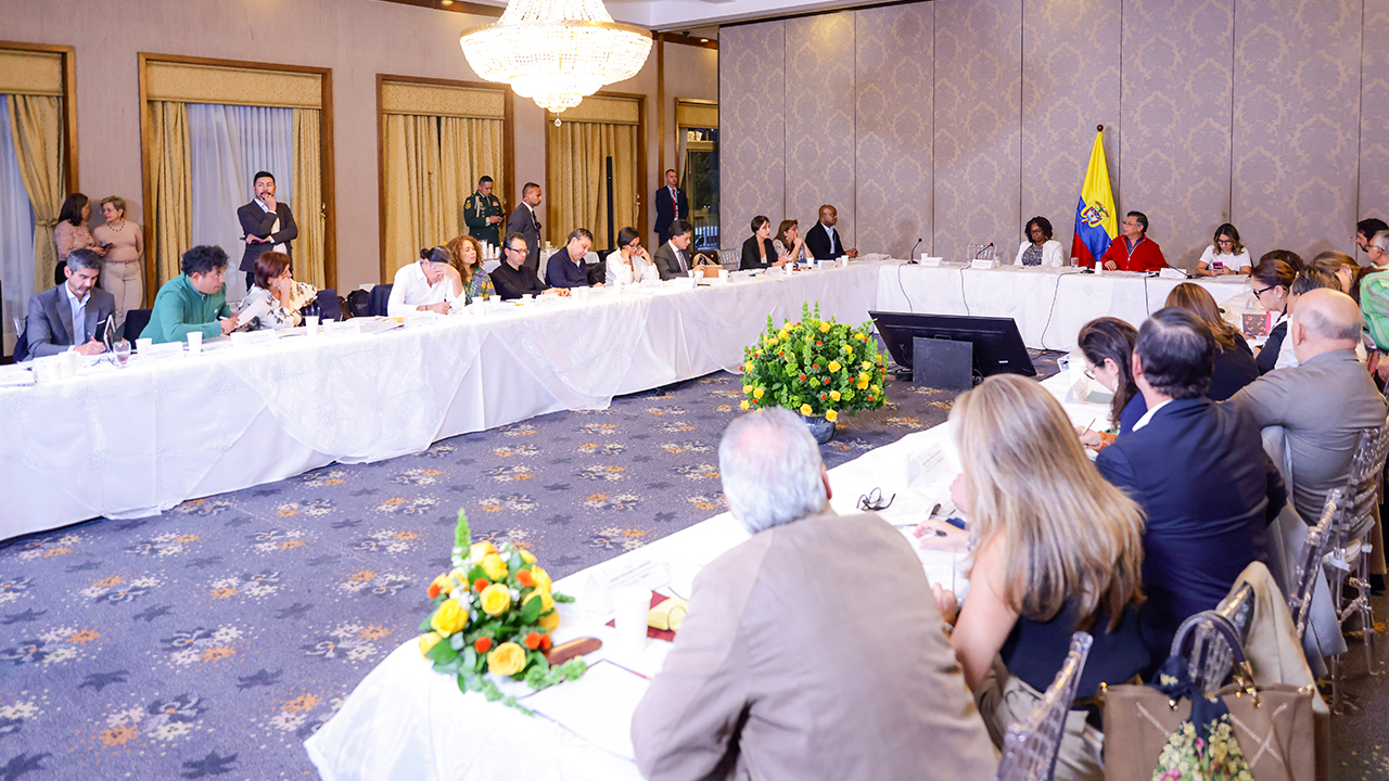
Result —
[[636, 125], [564, 122], [550, 126], [550, 186], [546, 193], [549, 239], [563, 245], [569, 231], [588, 228], [594, 247], [611, 246], [607, 235], [607, 161], [613, 156], [613, 229], [638, 218]]

